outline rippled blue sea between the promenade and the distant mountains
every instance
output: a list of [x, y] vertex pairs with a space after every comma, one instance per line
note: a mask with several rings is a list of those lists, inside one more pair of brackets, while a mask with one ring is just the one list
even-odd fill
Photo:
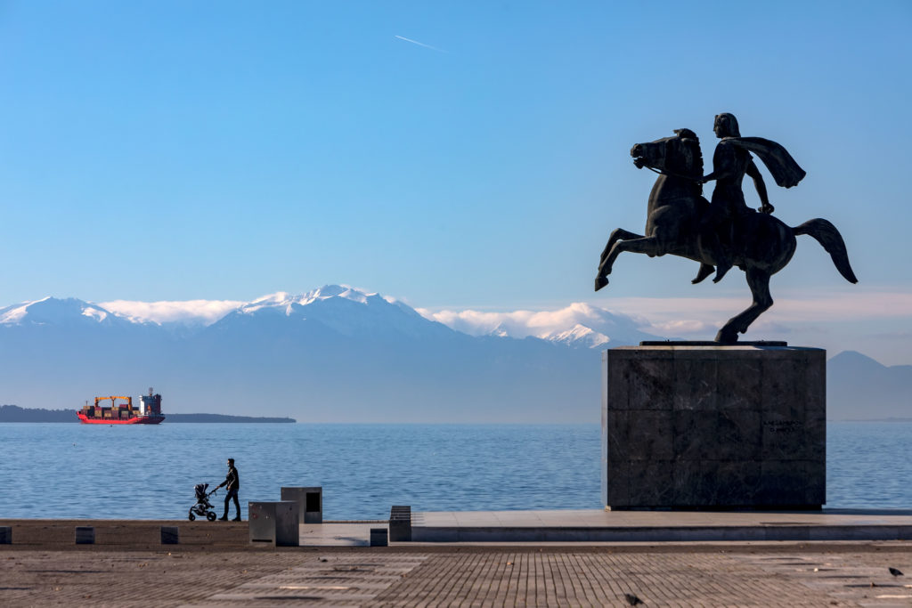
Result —
[[[912, 422], [829, 423], [826, 507], [912, 508], [910, 439]], [[0, 519], [183, 519], [229, 458], [244, 519], [282, 486], [322, 486], [325, 520], [387, 519], [392, 505], [600, 509], [600, 443], [596, 424], [4, 423]]]

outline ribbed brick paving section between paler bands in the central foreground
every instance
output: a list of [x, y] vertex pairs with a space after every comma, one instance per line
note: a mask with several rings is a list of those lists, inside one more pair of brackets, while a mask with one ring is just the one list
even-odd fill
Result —
[[858, 590], [834, 590], [713, 553], [470, 553], [430, 558], [368, 605], [627, 606], [625, 593], [647, 606], [859, 605]]

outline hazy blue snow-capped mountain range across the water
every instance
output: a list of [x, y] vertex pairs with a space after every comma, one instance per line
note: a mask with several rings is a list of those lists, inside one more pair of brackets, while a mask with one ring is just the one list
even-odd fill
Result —
[[[663, 336], [642, 332], [627, 315], [574, 306], [561, 317], [565, 326], [505, 322], [470, 335], [340, 285], [177, 320], [124, 303], [45, 298], [0, 308], [0, 403], [77, 408], [154, 386], [166, 413], [597, 422], [601, 350]], [[845, 353], [830, 367], [831, 417], [912, 416], [912, 366]], [[880, 406], [859, 407], [870, 399]]]

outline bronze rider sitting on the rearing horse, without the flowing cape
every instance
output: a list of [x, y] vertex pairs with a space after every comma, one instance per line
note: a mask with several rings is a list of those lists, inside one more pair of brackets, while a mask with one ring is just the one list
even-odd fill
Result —
[[754, 188], [760, 196], [762, 207], [758, 211], [772, 213], [773, 207], [766, 195], [766, 184], [763, 183], [763, 177], [754, 164], [751, 153], [737, 145], [737, 139], [732, 139], [741, 138], [738, 119], [729, 113], [718, 114], [712, 130], [720, 142], [712, 155], [712, 172], [702, 179], [703, 183], [716, 180], [716, 188], [712, 191], [710, 201], [709, 218], [704, 224], [703, 238], [706, 239], [712, 259], [716, 262], [716, 276], [712, 281], [719, 283], [731, 269], [735, 225], [741, 216], [753, 212], [744, 202], [744, 192], [741, 191], [741, 180], [744, 179], [745, 173], [751, 176]]

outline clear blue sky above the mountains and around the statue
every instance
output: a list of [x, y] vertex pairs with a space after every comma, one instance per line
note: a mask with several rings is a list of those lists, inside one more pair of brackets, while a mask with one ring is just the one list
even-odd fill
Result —
[[[0, 0], [0, 305], [250, 301], [347, 283], [428, 314], [587, 303], [711, 338], [737, 270], [625, 254], [634, 143], [712, 119], [807, 177], [748, 337], [912, 364], [912, 4]], [[710, 189], [707, 189], [707, 196]], [[748, 203], [757, 206], [750, 180]]]

